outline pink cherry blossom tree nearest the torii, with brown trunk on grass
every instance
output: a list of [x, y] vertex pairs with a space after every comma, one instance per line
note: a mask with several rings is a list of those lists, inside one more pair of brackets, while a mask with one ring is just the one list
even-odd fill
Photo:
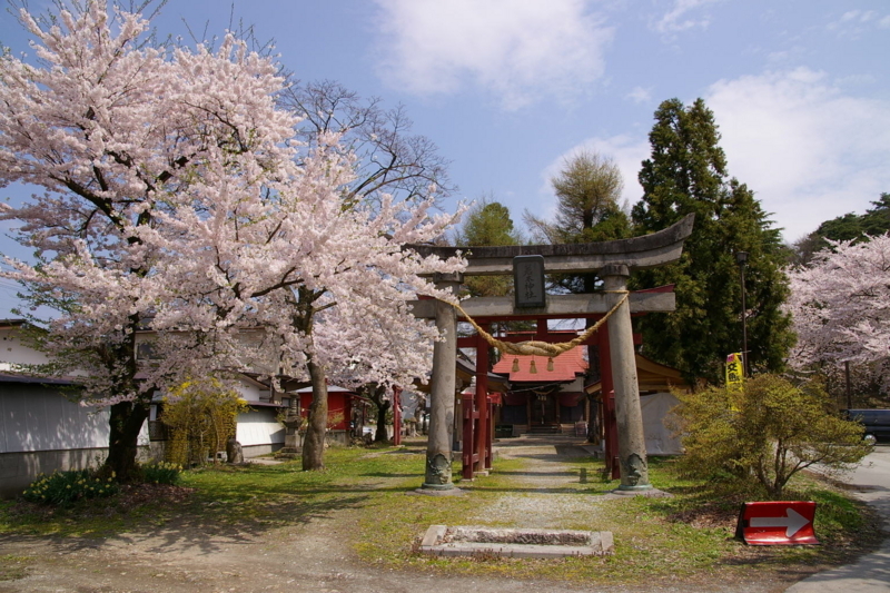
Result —
[[156, 326], [215, 329], [217, 340], [229, 339], [227, 352], [245, 330], [261, 328], [265, 359], [313, 385], [304, 470], [324, 467], [328, 378], [392, 387], [426, 377], [438, 336], [408, 302], [417, 293], [446, 297], [428, 276], [464, 266], [405, 248], [455, 221], [429, 214], [432, 196], [345, 201], [353, 159], [336, 135], [325, 136], [289, 177], [268, 179], [261, 191], [198, 189], [194, 206], [164, 220], [176, 229], [168, 250], [188, 249], [168, 258], [164, 274], [187, 290], [164, 299]]

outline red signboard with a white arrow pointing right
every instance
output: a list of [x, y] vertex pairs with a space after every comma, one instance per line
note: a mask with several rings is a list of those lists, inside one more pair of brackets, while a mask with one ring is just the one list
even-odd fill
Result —
[[744, 503], [735, 534], [751, 545], [818, 544], [814, 518], [813, 502]]

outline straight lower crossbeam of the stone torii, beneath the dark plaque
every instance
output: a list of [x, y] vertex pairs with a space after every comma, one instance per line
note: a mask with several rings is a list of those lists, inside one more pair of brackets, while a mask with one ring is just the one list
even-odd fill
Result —
[[[673, 293], [631, 293], [631, 313], [670, 313], [675, 308]], [[513, 297], [474, 297], [463, 300], [461, 306], [474, 319], [485, 317], [553, 316], [577, 317], [605, 314], [614, 305], [614, 295], [593, 293], [586, 295], [548, 295], [546, 307], [516, 309]], [[421, 319], [436, 317], [435, 300], [413, 300], [412, 314]], [[458, 313], [458, 317], [463, 316]]]

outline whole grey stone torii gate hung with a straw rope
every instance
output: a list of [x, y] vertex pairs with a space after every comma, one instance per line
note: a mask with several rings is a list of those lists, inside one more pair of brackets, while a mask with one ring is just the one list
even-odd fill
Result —
[[[548, 274], [596, 273], [604, 283], [604, 293], [584, 295], [547, 295], [544, 307], [517, 310], [513, 297], [469, 298], [461, 303], [473, 318], [508, 316], [564, 316], [570, 314], [605, 314], [627, 289], [627, 278], [635, 269], [652, 268], [676, 261], [683, 241], [692, 233], [694, 215], [675, 225], [630, 239], [573, 245], [525, 245], [504, 247], [436, 247], [408, 246], [421, 256], [453, 257], [465, 253], [467, 267], [463, 274], [436, 275], [436, 286], [455, 291], [464, 276], [505, 276], [513, 274], [513, 258], [540, 255]], [[652, 490], [649, 482], [643, 419], [640, 411], [640, 389], [634, 362], [631, 312], [672, 312], [673, 293], [633, 293], [607, 319], [612, 380], [615, 391], [615, 416], [619, 433], [617, 454], [621, 465], [619, 491], [633, 493]], [[454, 429], [454, 369], [457, 358], [457, 312], [441, 300], [419, 300], [413, 304], [416, 317], [435, 318], [444, 339], [434, 345], [431, 385], [429, 439], [426, 449], [426, 472], [423, 488], [445, 491], [452, 482], [452, 436]], [[478, 369], [477, 369], [478, 370]], [[484, 369], [487, 370], [487, 369]], [[477, 386], [478, 388], [478, 386]], [[483, 389], [479, 389], [483, 391]], [[487, 411], [486, 394], [477, 394], [479, 414]], [[481, 418], [482, 419], [482, 418]], [[487, 441], [487, 423], [479, 422], [477, 443]], [[465, 446], [468, 446], [465, 444]], [[478, 449], [477, 449], [478, 451]]]

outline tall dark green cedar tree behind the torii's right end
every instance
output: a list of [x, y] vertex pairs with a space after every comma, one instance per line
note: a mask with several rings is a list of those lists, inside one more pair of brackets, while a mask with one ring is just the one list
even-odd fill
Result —
[[681, 259], [639, 271], [634, 286], [675, 285], [676, 310], [639, 319], [643, 350], [689, 379], [719, 382], [723, 360], [742, 350], [741, 281], [735, 253], [746, 251], [749, 364], [778, 372], [794, 338], [781, 306], [788, 296], [779, 229], [744, 184], [728, 178], [713, 113], [701, 99], [679, 99], [655, 111], [652, 156], [643, 161], [643, 199], [632, 213], [639, 235], [666, 228], [688, 214], [695, 227]]

